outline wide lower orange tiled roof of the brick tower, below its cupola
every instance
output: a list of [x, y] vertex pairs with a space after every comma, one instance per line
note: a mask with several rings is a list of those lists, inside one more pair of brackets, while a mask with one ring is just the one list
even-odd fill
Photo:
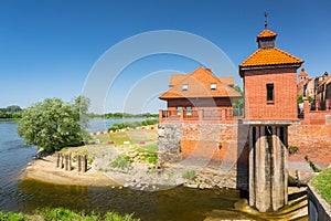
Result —
[[239, 64], [239, 67], [302, 63], [303, 60], [296, 57], [280, 49], [271, 48], [256, 50], [250, 56]]

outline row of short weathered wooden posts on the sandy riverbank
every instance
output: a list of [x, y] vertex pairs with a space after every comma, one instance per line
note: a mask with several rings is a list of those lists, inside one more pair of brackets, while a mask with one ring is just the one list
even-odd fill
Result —
[[[85, 155], [77, 155], [76, 166], [78, 171], [86, 172], [87, 171], [87, 156]], [[65, 170], [72, 170], [72, 155], [56, 155], [56, 167]]]

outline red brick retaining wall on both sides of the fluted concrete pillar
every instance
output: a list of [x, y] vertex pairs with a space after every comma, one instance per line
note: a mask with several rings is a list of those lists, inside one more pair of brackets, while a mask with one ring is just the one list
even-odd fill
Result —
[[[206, 158], [215, 161], [226, 160], [247, 162], [247, 130], [235, 124], [183, 124], [181, 154], [183, 158]], [[238, 138], [238, 130], [241, 137]], [[292, 125], [288, 129], [289, 146], [299, 151], [289, 155], [289, 161], [305, 161], [307, 155], [319, 166], [331, 164], [331, 124]], [[218, 143], [222, 147], [218, 148]]]

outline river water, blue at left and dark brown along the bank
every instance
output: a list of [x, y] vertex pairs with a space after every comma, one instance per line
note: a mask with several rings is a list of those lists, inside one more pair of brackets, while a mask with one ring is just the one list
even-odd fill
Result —
[[[98, 124], [109, 122], [93, 123], [94, 126]], [[103, 128], [95, 126], [90, 130], [99, 129]], [[31, 213], [38, 208], [64, 207], [86, 212], [134, 212], [142, 220], [197, 221], [214, 209], [233, 210], [239, 199], [236, 190], [178, 187], [147, 192], [127, 188], [55, 186], [19, 179], [35, 151], [35, 147], [24, 146], [18, 136], [15, 122], [0, 122], [0, 211]]]

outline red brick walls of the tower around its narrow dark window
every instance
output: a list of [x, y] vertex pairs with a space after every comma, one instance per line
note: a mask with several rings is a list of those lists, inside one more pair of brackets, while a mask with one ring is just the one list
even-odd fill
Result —
[[[274, 84], [274, 104], [267, 104], [266, 84]], [[245, 118], [297, 119], [296, 69], [245, 71]]]

